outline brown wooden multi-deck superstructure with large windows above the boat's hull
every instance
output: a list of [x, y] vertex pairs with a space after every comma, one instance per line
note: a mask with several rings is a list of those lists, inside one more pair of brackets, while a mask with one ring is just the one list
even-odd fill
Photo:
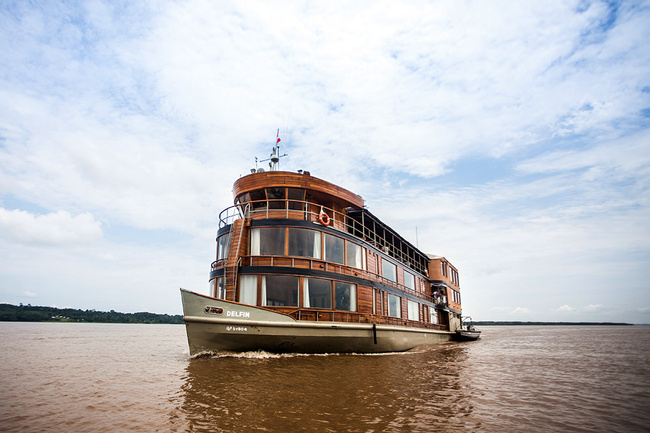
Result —
[[284, 171], [241, 177], [233, 195], [220, 215], [211, 297], [300, 322], [459, 326], [457, 269], [382, 223], [359, 195]]

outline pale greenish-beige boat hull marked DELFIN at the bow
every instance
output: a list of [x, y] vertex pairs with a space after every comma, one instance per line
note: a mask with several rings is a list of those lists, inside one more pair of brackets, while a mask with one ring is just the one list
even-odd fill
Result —
[[181, 289], [192, 356], [234, 351], [401, 352], [450, 341], [452, 332], [369, 323], [316, 322]]

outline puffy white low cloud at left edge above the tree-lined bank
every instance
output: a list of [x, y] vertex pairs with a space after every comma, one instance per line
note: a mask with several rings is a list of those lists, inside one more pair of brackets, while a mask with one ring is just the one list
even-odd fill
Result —
[[34, 215], [0, 208], [0, 236], [36, 245], [87, 244], [102, 237], [102, 228], [90, 213]]

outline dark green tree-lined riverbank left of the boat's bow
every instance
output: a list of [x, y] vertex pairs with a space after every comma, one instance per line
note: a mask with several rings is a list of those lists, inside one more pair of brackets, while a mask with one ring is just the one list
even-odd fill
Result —
[[174, 323], [183, 316], [155, 313], [118, 313], [117, 311], [75, 310], [72, 308], [33, 307], [0, 304], [0, 321], [4, 322], [96, 322], [96, 323]]

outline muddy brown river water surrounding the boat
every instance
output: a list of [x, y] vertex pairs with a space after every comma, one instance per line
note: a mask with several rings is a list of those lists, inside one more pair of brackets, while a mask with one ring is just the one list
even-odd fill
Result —
[[1, 432], [648, 432], [650, 326], [190, 359], [182, 325], [0, 322]]

